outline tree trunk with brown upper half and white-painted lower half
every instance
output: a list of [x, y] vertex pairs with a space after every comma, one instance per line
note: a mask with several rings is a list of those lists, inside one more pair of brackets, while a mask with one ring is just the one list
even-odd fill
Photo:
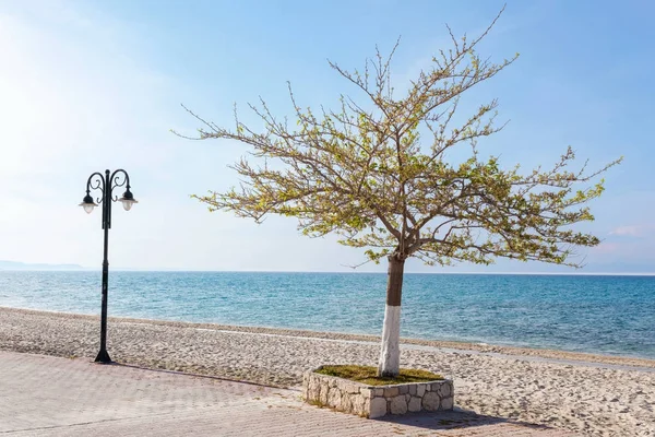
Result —
[[401, 370], [401, 298], [403, 295], [403, 270], [405, 259], [397, 255], [389, 257], [386, 279], [386, 308], [382, 327], [382, 349], [378, 376], [395, 377]]

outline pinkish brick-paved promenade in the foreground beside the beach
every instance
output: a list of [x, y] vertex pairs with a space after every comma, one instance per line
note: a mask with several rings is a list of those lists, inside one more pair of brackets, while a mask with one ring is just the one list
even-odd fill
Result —
[[366, 420], [299, 391], [0, 351], [0, 436], [572, 436], [466, 413]]

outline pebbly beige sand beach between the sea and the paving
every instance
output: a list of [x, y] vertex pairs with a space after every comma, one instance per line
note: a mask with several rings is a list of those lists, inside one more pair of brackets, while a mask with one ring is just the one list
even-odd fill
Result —
[[[112, 359], [295, 387], [321, 364], [374, 365], [374, 336], [110, 318]], [[96, 317], [0, 308], [0, 350], [95, 357]], [[592, 436], [655, 436], [655, 361], [407, 340], [402, 366], [452, 378], [457, 408]]]

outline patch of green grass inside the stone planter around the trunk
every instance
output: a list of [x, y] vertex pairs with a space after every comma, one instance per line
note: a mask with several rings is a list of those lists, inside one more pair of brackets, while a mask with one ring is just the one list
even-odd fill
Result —
[[373, 366], [323, 366], [317, 374], [336, 376], [338, 378], [349, 379], [366, 383], [368, 386], [388, 386], [393, 383], [407, 382], [428, 382], [443, 379], [441, 375], [432, 374], [427, 370], [401, 369], [401, 374], [395, 378], [382, 378], [378, 376], [378, 368]]

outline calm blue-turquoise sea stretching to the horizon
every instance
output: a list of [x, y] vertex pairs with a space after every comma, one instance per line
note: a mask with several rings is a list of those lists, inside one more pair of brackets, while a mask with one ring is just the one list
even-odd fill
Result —
[[[109, 315], [379, 334], [382, 273], [109, 274]], [[0, 306], [99, 314], [100, 273], [0, 271]], [[655, 276], [406, 274], [401, 334], [655, 358]]]

